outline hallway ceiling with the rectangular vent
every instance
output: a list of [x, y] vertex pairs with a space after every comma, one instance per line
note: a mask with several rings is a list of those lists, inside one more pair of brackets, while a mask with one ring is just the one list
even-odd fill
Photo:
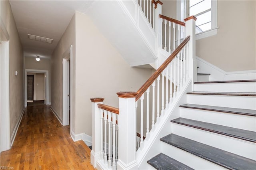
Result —
[[[85, 13], [93, 1], [10, 0], [25, 57], [50, 58], [75, 11]], [[53, 39], [28, 39], [28, 34]]]

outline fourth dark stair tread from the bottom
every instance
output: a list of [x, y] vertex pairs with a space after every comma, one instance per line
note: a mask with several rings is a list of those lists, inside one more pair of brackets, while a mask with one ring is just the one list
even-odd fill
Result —
[[200, 110], [206, 110], [206, 111], [234, 113], [239, 115], [256, 116], [256, 110], [250, 110], [250, 109], [237, 109], [237, 108], [231, 108], [231, 107], [218, 107], [218, 106], [194, 105], [194, 104], [180, 105], [180, 107], [190, 108], [190, 109], [200, 109]]

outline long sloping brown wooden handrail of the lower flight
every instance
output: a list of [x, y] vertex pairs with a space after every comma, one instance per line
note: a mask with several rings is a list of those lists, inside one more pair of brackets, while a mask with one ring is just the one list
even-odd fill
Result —
[[[144, 83], [144, 85], [142, 85], [142, 87], [140, 87], [140, 89], [137, 91], [138, 95], [136, 96], [136, 101], [138, 101], [138, 99], [140, 99], [140, 97], [142, 96], [143, 93], [145, 93], [145, 91], [148, 89], [148, 87], [150, 87], [150, 85], [152, 85], [152, 83], [156, 80], [156, 78], [164, 71], [164, 69], [170, 64], [170, 62], [172, 61], [172, 59], [174, 59], [174, 57], [176, 55], [178, 55], [178, 53], [182, 50], [182, 48], [186, 45], [186, 43], [188, 43], [188, 41], [190, 40], [190, 36], [188, 36], [187, 38], [185, 38], [185, 40], [180, 43], [180, 45], [173, 51], [173, 53], [171, 53], [171, 55], [164, 61], [164, 63], [162, 63], [162, 65], [154, 72], [154, 74], [146, 81], [146, 83]], [[99, 104], [98, 104], [99, 105]]]

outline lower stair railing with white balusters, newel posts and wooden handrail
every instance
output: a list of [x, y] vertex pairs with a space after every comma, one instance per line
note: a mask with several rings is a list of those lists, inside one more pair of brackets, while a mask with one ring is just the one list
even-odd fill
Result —
[[[94, 167], [138, 169], [138, 159], [146, 153], [147, 142], [154, 140], [154, 132], [157, 132], [161, 120], [164, 121], [167, 110], [175, 104], [173, 101], [177, 102], [181, 89], [184, 90], [189, 80], [196, 80], [195, 20], [194, 16], [185, 19], [187, 37], [137, 92], [117, 93], [119, 109], [103, 105], [103, 98], [91, 99], [91, 163]], [[138, 129], [140, 141], [137, 140]]]

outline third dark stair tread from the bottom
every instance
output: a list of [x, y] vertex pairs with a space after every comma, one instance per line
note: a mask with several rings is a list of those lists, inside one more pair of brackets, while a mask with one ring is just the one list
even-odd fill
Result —
[[181, 117], [178, 119], [174, 119], [171, 122], [256, 143], [256, 132], [249, 130], [226, 127], [222, 125], [195, 121]]

